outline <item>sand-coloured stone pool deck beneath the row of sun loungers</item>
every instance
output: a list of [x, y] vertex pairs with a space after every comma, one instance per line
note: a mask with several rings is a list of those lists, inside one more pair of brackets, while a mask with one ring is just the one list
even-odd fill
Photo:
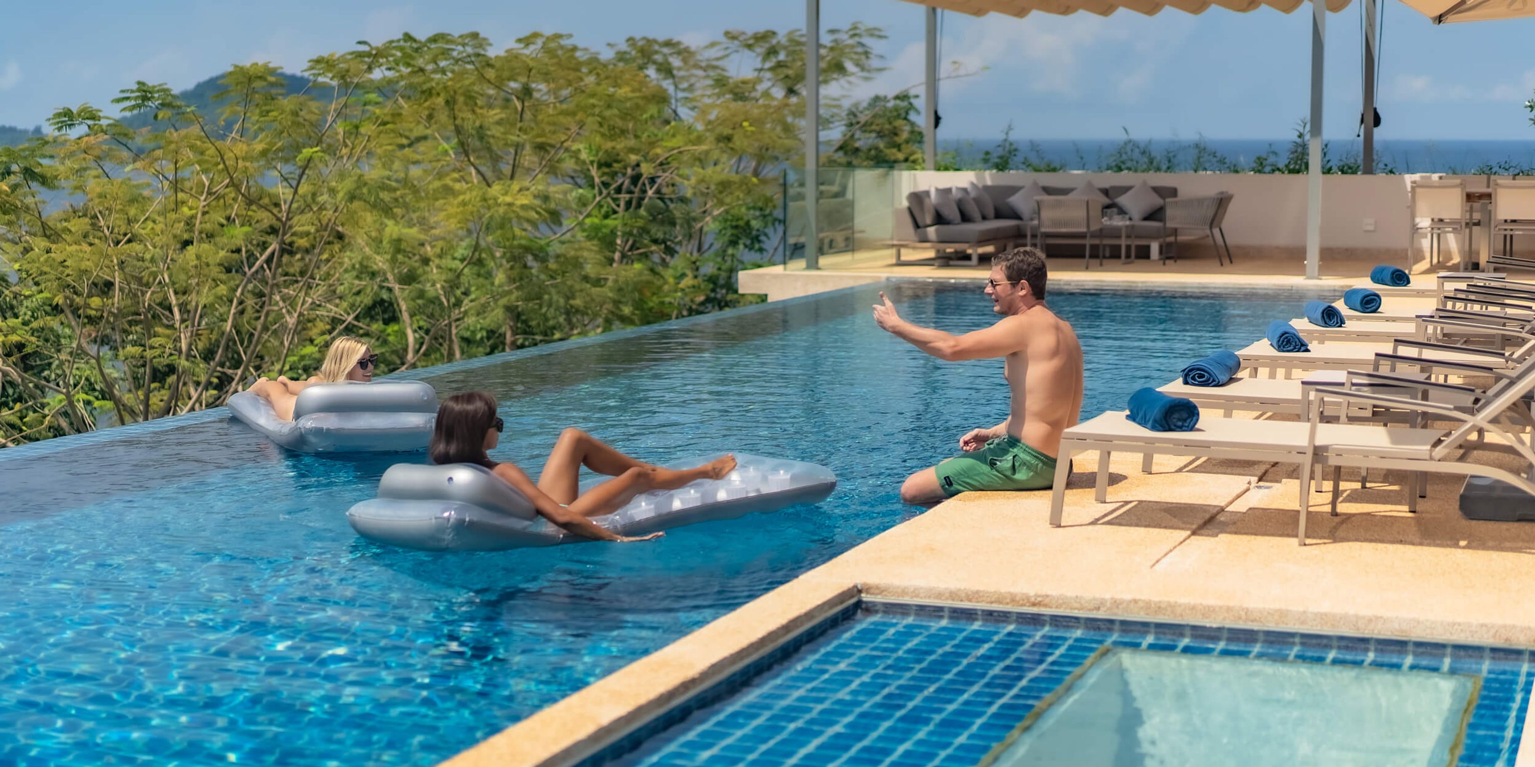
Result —
[[1048, 491], [962, 494], [447, 764], [574, 762], [857, 595], [1535, 646], [1535, 525], [1464, 520], [1460, 479], [1431, 477], [1408, 514], [1394, 477], [1345, 472], [1339, 517], [1312, 494], [1302, 548], [1296, 466], [1157, 457], [1142, 474], [1116, 454], [1111, 471], [1107, 503], [1073, 476], [1061, 528]]

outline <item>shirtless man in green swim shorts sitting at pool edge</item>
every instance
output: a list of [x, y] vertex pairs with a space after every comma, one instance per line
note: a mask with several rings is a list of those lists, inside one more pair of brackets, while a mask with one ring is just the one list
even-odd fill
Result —
[[1082, 347], [1071, 325], [1045, 307], [1045, 258], [1019, 247], [992, 258], [985, 284], [995, 325], [962, 336], [916, 327], [895, 313], [890, 299], [873, 307], [873, 321], [901, 341], [942, 360], [1004, 357], [1013, 391], [1007, 420], [959, 437], [959, 456], [912, 474], [901, 485], [906, 503], [936, 503], [970, 489], [1044, 489], [1055, 482], [1061, 433], [1082, 410]]

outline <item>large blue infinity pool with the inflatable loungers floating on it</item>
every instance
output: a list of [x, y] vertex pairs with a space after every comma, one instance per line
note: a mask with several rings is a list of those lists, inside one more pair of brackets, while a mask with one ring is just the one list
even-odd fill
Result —
[[[992, 321], [973, 282], [884, 288], [916, 322]], [[500, 397], [503, 460], [582, 426], [654, 460], [738, 449], [840, 476], [820, 506], [645, 545], [385, 549], [344, 512], [398, 457], [292, 454], [216, 413], [0, 451], [0, 762], [430, 764], [909, 518], [901, 479], [1007, 397], [998, 360], [875, 328], [876, 290], [418, 373]], [[1050, 302], [1085, 347], [1093, 414], [1306, 298]]]

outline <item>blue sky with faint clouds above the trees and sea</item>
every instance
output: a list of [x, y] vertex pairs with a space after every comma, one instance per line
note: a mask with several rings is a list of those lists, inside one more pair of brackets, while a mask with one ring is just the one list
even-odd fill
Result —
[[[20, 5], [20, 3], [18, 3]], [[1529, 138], [1535, 18], [1432, 26], [1385, 0], [1382, 138]], [[402, 31], [479, 31], [505, 43], [571, 32], [602, 48], [626, 35], [705, 41], [723, 29], [803, 25], [800, 0], [157, 0], [25, 3], [0, 35], [0, 124], [34, 126], [57, 106], [107, 106], [134, 80], [187, 87], [235, 61], [298, 71], [315, 54]], [[821, 0], [824, 28], [883, 26], [890, 69], [861, 94], [921, 80], [923, 9], [901, 0]], [[944, 14], [944, 138], [1285, 138], [1308, 109], [1309, 6], [1291, 15], [1213, 9], [984, 18]], [[1360, 104], [1360, 14], [1328, 21], [1329, 137], [1352, 137]]]

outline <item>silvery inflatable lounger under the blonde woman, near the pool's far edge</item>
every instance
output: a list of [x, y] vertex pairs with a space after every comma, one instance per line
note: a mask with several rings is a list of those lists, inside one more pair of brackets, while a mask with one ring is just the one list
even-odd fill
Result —
[[241, 423], [299, 453], [390, 453], [424, 449], [437, 420], [437, 391], [421, 380], [316, 384], [298, 393], [293, 420], [266, 397], [229, 397]]

